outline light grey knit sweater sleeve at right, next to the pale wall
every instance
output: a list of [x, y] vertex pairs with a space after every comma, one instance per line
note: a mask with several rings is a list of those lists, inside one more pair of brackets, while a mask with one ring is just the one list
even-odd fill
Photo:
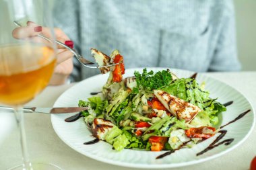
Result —
[[[222, 26], [209, 71], [239, 71], [241, 64], [236, 51], [236, 29], [232, 1], [223, 9]], [[225, 9], [226, 8], [226, 9]]]

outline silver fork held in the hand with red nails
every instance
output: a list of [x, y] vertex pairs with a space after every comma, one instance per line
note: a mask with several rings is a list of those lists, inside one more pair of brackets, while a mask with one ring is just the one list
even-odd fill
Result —
[[[20, 25], [18, 22], [14, 21], [13, 22], [16, 26], [21, 27], [22, 25]], [[44, 40], [47, 40], [49, 42], [52, 42], [52, 40], [50, 40], [49, 38], [46, 38], [45, 36], [43, 36], [42, 34], [37, 34], [37, 36], [39, 36], [40, 38], [44, 38]], [[104, 65], [104, 66], [98, 66], [98, 64], [91, 62], [90, 60], [86, 60], [86, 58], [84, 58], [82, 55], [80, 55], [78, 52], [75, 51], [75, 49], [70, 48], [69, 46], [67, 46], [66, 44], [63, 44], [62, 42], [59, 42], [57, 40], [55, 40], [55, 42], [65, 48], [67, 48], [69, 51], [71, 51], [74, 55], [75, 58], [77, 58], [77, 60], [84, 65], [85, 67], [89, 67], [89, 68], [93, 68], [93, 69], [100, 69], [103, 67], [112, 67], [115, 65], [119, 65], [120, 63], [115, 63], [115, 64], [111, 64], [111, 65]]]

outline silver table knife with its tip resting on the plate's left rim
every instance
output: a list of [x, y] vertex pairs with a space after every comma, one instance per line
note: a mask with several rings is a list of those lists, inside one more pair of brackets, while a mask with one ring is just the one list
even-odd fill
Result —
[[[13, 110], [6, 106], [0, 106], [0, 110]], [[41, 114], [69, 114], [74, 112], [82, 112], [88, 110], [88, 107], [69, 107], [69, 108], [36, 108], [25, 107], [23, 108], [25, 113], [41, 113]]]

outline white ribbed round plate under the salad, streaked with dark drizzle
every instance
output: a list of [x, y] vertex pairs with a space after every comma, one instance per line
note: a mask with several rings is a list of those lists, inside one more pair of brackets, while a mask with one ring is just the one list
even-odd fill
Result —
[[[149, 68], [148, 71], [160, 71], [164, 68]], [[142, 69], [127, 69], [125, 77], [133, 75], [134, 71], [137, 70], [140, 73]], [[178, 77], [190, 77], [193, 75], [191, 71], [183, 71], [178, 69], [171, 69], [171, 71], [177, 74]], [[65, 91], [59, 99], [55, 102], [55, 107], [69, 107], [77, 106], [79, 99], [86, 100], [90, 97], [90, 92], [100, 91], [104, 83], [108, 78], [107, 75], [96, 75], [90, 77], [84, 81], [81, 81]], [[68, 146], [73, 148], [78, 153], [86, 155], [92, 159], [102, 161], [104, 163], [110, 163], [114, 165], [120, 165], [124, 167], [137, 167], [137, 168], [166, 168], [166, 167], [182, 167], [186, 165], [192, 165], [195, 163], [201, 163], [208, 161], [220, 155], [228, 153], [232, 149], [236, 148], [239, 144], [244, 142], [251, 131], [253, 130], [255, 122], [255, 114], [249, 101], [236, 89], [233, 89], [229, 85], [222, 83], [211, 77], [205, 77], [204, 75], [198, 74], [197, 81], [199, 83], [205, 81], [205, 89], [210, 91], [211, 97], [218, 97], [218, 101], [226, 103], [228, 101], [234, 101], [232, 105], [227, 107], [227, 111], [222, 115], [222, 125], [234, 120], [239, 114], [251, 110], [240, 120], [224, 127], [228, 130], [224, 139], [234, 138], [234, 141], [230, 145], [220, 145], [203, 155], [196, 156], [197, 153], [203, 151], [214, 139], [219, 135], [216, 134], [214, 137], [209, 138], [195, 146], [193, 148], [183, 148], [171, 155], [168, 155], [162, 159], [156, 159], [158, 155], [165, 153], [161, 152], [150, 152], [150, 151], [135, 151], [131, 149], [124, 149], [121, 152], [112, 149], [112, 146], [107, 142], [97, 142], [96, 144], [84, 145], [84, 142], [93, 140], [92, 134], [86, 128], [86, 124], [83, 119], [80, 118], [76, 122], [67, 123], [65, 118], [73, 114], [59, 114], [52, 115], [51, 120], [55, 132]], [[220, 140], [220, 141], [222, 141]]]

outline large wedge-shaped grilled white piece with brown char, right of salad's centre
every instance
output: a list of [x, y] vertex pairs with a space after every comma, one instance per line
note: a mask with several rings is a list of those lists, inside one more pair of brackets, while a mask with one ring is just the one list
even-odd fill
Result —
[[164, 107], [179, 120], [184, 119], [190, 122], [201, 111], [196, 105], [193, 105], [174, 95], [170, 95], [162, 90], [154, 90], [154, 95], [164, 105]]

